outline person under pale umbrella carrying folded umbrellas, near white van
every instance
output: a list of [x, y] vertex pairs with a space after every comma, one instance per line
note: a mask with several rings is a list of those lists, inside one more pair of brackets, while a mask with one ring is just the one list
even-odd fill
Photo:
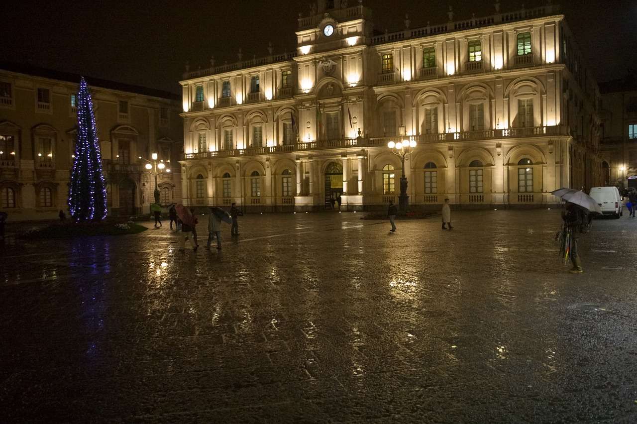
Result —
[[595, 199], [582, 191], [573, 190], [572, 188], [560, 188], [551, 192], [552, 195], [566, 201], [566, 206], [562, 210], [562, 232], [558, 233], [557, 239], [561, 241], [561, 255], [564, 257], [564, 265], [566, 260], [571, 258], [573, 268], [569, 271], [571, 274], [581, 274], [582, 260], [577, 248], [576, 234], [582, 232], [588, 222], [587, 213], [601, 214], [601, 208]]

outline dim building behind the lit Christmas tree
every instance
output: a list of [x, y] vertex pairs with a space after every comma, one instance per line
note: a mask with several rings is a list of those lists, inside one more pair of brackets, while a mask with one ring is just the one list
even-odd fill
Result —
[[[0, 211], [10, 220], [68, 214], [80, 76], [0, 64]], [[181, 201], [177, 159], [183, 130], [178, 96], [87, 78], [96, 117], [109, 215], [149, 213], [152, 153], [166, 164], [158, 176], [162, 204]], [[171, 164], [173, 164], [171, 168]]]

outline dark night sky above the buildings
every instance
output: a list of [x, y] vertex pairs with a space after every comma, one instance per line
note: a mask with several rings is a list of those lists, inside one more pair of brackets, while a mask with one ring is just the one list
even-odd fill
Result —
[[[350, 5], [357, 0], [350, 0]], [[503, 11], [545, 4], [545, 0], [502, 0]], [[598, 81], [621, 78], [634, 66], [637, 45], [637, 1], [564, 0], [571, 29]], [[81, 73], [179, 93], [184, 64], [190, 69], [236, 62], [296, 46], [299, 11], [309, 1], [4, 1], [0, 59], [28, 62], [58, 71]], [[412, 27], [494, 12], [493, 0], [364, 0], [372, 8], [376, 29]], [[471, 4], [471, 6], [466, 6]], [[396, 6], [399, 5], [399, 6]]]

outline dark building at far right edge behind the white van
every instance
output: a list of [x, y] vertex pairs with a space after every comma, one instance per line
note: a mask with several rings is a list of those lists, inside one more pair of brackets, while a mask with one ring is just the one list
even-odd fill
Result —
[[604, 185], [637, 188], [637, 80], [630, 76], [600, 88]]

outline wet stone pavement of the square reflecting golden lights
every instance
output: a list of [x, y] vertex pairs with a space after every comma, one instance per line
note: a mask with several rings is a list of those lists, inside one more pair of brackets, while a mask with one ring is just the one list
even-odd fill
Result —
[[10, 240], [1, 421], [637, 422], [637, 219], [596, 221], [571, 275], [559, 211], [360, 217]]

